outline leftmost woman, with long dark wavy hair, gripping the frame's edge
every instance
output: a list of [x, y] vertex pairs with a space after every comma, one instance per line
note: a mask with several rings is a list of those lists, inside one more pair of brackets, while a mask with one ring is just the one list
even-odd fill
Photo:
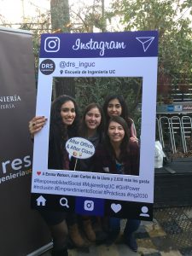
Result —
[[[31, 137], [41, 131], [47, 119], [42, 116], [34, 117], [29, 122]], [[55, 170], [69, 170], [69, 157], [65, 149], [65, 143], [70, 137], [77, 137], [79, 129], [79, 111], [77, 104], [71, 96], [59, 96], [51, 106], [49, 125], [49, 158], [48, 168]], [[50, 210], [39, 211], [49, 226], [53, 237], [54, 256], [65, 256], [67, 253], [67, 223], [69, 219], [69, 234], [77, 247], [86, 247], [76, 223], [73, 223], [67, 212], [56, 212]]]

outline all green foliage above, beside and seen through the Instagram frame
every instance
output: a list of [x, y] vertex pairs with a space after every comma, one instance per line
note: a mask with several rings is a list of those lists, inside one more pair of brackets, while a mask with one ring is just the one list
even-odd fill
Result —
[[[158, 30], [159, 83], [171, 84], [172, 81], [177, 84], [178, 81], [183, 81], [184, 77], [191, 86], [192, 0], [113, 0], [111, 7], [105, 11], [103, 9], [106, 0], [79, 0], [79, 4], [75, 6], [68, 6], [67, 0], [50, 1], [57, 2], [61, 3], [62, 8], [56, 8], [51, 4], [48, 13], [41, 15], [37, 12], [27, 24], [21, 26], [22, 29], [33, 32], [37, 73], [41, 33], [53, 32], [56, 29], [58, 32], [93, 32], [96, 29], [101, 32]], [[65, 11], [62, 12], [62, 9]], [[108, 24], [109, 21], [111, 24]], [[75, 79], [76, 97], [80, 107], [84, 108], [84, 105], [90, 102], [102, 104], [105, 96], [120, 92], [125, 96], [133, 115], [137, 103], [141, 102], [141, 84], [141, 79], [130, 78]]]

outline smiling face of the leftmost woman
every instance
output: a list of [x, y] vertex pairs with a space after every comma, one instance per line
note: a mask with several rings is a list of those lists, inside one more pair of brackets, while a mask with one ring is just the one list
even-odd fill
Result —
[[61, 105], [61, 119], [63, 124], [72, 125], [75, 116], [75, 107], [72, 101], [65, 102]]

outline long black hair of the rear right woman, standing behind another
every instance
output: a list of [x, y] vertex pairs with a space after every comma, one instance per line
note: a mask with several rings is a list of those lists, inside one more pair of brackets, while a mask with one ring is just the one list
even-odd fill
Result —
[[103, 109], [103, 113], [105, 115], [107, 123], [108, 123], [108, 120], [110, 119], [110, 116], [108, 115], [108, 103], [110, 101], [114, 100], [114, 99], [117, 99], [119, 101], [121, 109], [122, 109], [122, 112], [121, 112], [120, 116], [123, 119], [125, 119], [128, 127], [130, 128], [132, 121], [129, 118], [129, 110], [128, 110], [127, 104], [125, 102], [125, 99], [121, 95], [109, 95], [109, 96], [106, 97], [102, 109]]

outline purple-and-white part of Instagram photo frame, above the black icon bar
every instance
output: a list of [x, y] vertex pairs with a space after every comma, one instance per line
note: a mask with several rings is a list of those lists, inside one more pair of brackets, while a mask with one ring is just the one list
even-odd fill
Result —
[[[44, 129], [35, 136], [32, 194], [154, 202], [157, 48], [156, 31], [42, 35], [36, 115], [45, 116], [48, 121]], [[79, 62], [89, 62], [92, 65], [86, 68], [82, 65], [79, 67]], [[65, 63], [71, 65], [67, 67]], [[56, 77], [141, 77], [143, 79], [139, 176], [48, 169], [51, 94], [53, 79]], [[61, 173], [64, 175], [61, 176]], [[88, 183], [93, 184], [92, 193], [83, 185]], [[109, 189], [111, 192], [120, 188], [119, 191], [122, 193], [104, 194], [104, 189], [109, 183], [113, 184]], [[86, 192], [87, 190], [89, 192]]]

